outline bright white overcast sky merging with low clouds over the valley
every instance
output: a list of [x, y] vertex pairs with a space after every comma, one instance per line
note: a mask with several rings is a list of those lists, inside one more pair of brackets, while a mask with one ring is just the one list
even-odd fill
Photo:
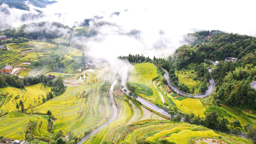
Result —
[[[199, 30], [221, 30], [256, 36], [256, 1], [233, 0], [57, 0], [58, 3], [37, 8], [45, 13], [38, 20], [20, 22], [22, 10], [11, 9], [11, 17], [0, 19], [12, 26], [22, 23], [54, 21], [70, 27], [86, 18], [104, 16], [104, 20], [115, 23], [100, 29], [100, 41], [86, 42], [95, 52], [110, 49], [116, 55], [129, 53], [163, 56], [186, 44], [184, 35]], [[31, 6], [31, 5], [30, 5]], [[31, 6], [33, 7], [33, 6]], [[126, 11], [125, 11], [126, 10]], [[119, 16], [111, 16], [120, 12]], [[0, 12], [1, 15], [1, 12]], [[51, 16], [51, 18], [50, 18]], [[120, 31], [140, 30], [138, 40], [120, 36]], [[126, 50], [124, 50], [124, 48]], [[98, 54], [101, 56], [101, 54]]]

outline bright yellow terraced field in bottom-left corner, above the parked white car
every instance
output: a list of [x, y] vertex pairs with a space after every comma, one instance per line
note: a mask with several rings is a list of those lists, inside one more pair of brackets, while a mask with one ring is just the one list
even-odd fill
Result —
[[46, 115], [27, 115], [14, 111], [0, 118], [0, 135], [14, 140], [25, 140], [25, 132], [30, 128], [35, 138], [53, 136], [47, 131], [47, 120]]

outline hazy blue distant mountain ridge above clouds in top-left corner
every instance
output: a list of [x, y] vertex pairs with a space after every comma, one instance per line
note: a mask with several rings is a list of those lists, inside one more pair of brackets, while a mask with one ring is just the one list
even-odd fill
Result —
[[10, 8], [17, 8], [20, 10], [29, 10], [28, 6], [26, 6], [25, 2], [28, 1], [33, 6], [38, 8], [45, 8], [48, 4], [54, 4], [57, 1], [48, 1], [48, 0], [0, 0], [0, 5], [2, 3], [7, 4]]

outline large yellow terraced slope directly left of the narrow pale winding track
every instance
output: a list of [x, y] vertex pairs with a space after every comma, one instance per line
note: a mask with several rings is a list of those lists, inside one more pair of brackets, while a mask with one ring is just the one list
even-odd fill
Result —
[[48, 110], [52, 112], [56, 121], [51, 132], [62, 130], [64, 135], [72, 133], [82, 138], [86, 130], [94, 130], [110, 118], [108, 93], [100, 93], [105, 80], [114, 79], [114, 74], [109, 73], [107, 70], [92, 72], [84, 84], [75, 88], [68, 87], [64, 94], [37, 106], [34, 111], [43, 114]]

